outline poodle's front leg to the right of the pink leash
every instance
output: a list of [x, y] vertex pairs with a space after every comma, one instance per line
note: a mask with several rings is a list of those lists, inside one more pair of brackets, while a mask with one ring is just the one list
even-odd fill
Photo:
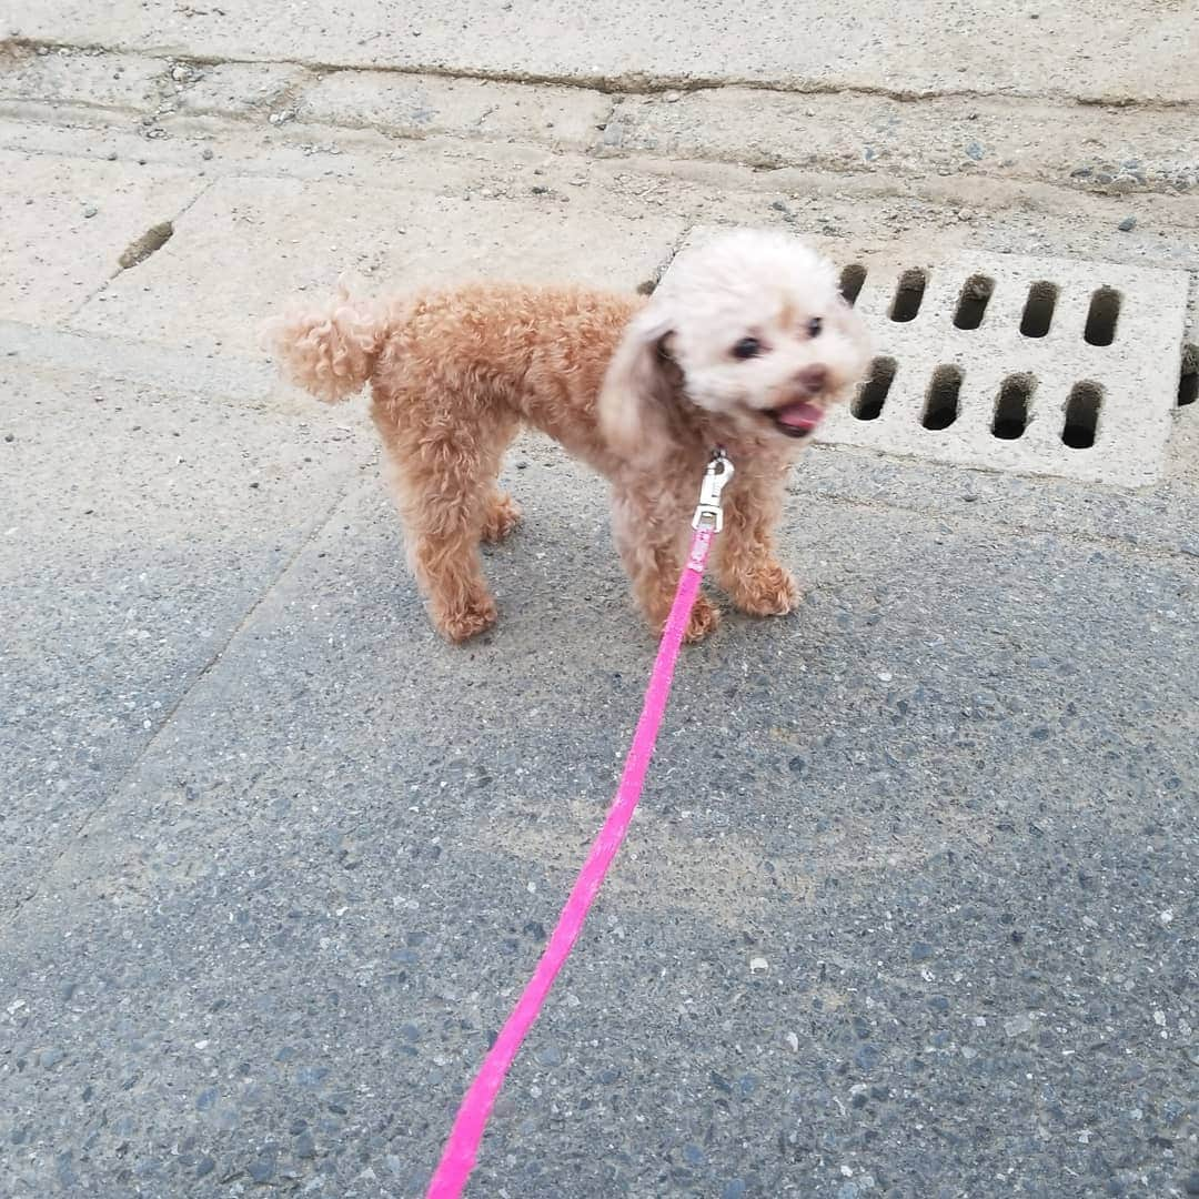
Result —
[[785, 469], [739, 470], [724, 494], [716, 578], [737, 608], [754, 616], [785, 616], [801, 598], [790, 571], [775, 558], [785, 481]]

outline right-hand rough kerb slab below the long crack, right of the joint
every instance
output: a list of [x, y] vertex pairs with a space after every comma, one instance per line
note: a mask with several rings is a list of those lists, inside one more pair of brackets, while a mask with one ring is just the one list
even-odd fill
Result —
[[1046, 179], [1131, 194], [1199, 185], [1186, 108], [1054, 106], [951, 96], [920, 104], [864, 92], [711, 88], [621, 97], [607, 152], [647, 151], [778, 168], [923, 176], [958, 173]]

